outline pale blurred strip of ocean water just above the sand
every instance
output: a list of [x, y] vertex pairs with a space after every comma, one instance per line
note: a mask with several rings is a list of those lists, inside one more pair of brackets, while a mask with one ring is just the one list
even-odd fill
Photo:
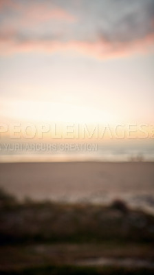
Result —
[[0, 143], [0, 162], [153, 162], [154, 140]]

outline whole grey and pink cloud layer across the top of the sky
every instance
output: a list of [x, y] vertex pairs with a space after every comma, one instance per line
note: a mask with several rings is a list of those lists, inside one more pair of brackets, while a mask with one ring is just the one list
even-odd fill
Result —
[[71, 51], [102, 59], [153, 50], [153, 0], [84, 0], [78, 10], [69, 0], [25, 3], [0, 0], [2, 55]]

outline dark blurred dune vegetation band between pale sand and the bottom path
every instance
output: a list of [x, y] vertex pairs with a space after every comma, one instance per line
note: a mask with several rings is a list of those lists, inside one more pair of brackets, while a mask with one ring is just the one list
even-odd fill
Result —
[[0, 243], [154, 242], [154, 217], [129, 210], [123, 201], [111, 206], [44, 201], [18, 203], [1, 192]]

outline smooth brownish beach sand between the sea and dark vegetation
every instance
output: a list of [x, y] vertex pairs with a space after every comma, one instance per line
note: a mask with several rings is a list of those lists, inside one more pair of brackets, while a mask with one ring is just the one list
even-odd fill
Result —
[[1, 163], [0, 186], [19, 199], [152, 195], [154, 162]]

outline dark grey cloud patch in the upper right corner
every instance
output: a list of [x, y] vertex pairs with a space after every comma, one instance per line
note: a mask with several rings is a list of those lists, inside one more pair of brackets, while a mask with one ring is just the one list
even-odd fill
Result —
[[153, 34], [154, 1], [140, 1], [138, 5], [138, 1], [134, 1], [136, 5], [130, 1], [130, 7], [111, 20], [108, 28], [102, 28], [102, 36], [112, 43], [129, 43]]

